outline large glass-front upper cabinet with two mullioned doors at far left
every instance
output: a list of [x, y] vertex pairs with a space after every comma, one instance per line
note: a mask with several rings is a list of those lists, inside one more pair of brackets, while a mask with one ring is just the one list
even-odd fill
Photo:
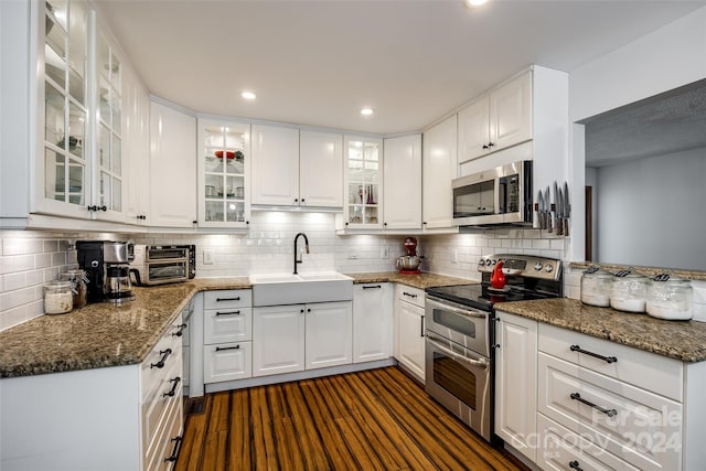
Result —
[[32, 6], [39, 9], [36, 210], [121, 221], [121, 63], [86, 2]]

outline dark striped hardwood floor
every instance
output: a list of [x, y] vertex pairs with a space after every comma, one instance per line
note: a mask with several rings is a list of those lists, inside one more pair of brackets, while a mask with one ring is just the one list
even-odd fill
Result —
[[176, 470], [517, 470], [396, 367], [207, 394]]

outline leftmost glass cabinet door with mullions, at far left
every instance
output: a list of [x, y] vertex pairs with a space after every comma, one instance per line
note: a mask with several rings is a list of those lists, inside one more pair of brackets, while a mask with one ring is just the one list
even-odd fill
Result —
[[44, 197], [86, 202], [88, 17], [77, 1], [44, 7]]

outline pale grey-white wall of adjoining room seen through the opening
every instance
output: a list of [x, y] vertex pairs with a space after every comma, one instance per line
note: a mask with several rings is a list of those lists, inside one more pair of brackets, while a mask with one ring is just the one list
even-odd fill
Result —
[[706, 271], [706, 148], [601, 167], [602, 263]]

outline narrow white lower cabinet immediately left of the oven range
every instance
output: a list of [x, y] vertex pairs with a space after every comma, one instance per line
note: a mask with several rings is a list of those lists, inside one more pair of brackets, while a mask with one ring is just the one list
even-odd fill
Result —
[[395, 357], [420, 382], [425, 382], [424, 290], [397, 285], [395, 296]]

